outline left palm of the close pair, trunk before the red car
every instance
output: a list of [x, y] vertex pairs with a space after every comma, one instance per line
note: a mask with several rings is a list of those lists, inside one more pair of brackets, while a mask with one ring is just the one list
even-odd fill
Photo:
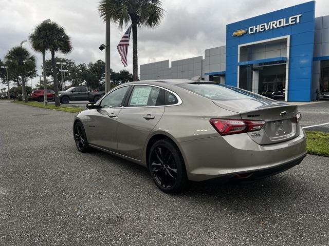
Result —
[[[42, 53], [42, 63], [43, 63], [43, 81], [47, 81], [46, 73], [46, 51], [49, 50], [49, 43], [51, 36], [49, 35], [49, 30], [51, 26], [47, 22], [43, 22], [36, 26], [33, 32], [30, 34], [30, 43], [32, 49], [36, 52]], [[47, 105], [47, 83], [44, 83], [44, 104]]]

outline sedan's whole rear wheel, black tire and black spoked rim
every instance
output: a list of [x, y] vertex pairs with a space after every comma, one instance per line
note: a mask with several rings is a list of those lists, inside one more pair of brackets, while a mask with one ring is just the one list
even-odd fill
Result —
[[166, 193], [178, 193], [187, 186], [184, 159], [177, 146], [168, 139], [156, 141], [148, 156], [149, 171], [156, 186]]

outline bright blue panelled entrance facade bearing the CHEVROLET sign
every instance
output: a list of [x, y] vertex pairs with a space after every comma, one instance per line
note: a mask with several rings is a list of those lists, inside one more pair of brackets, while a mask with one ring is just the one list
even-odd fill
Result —
[[[289, 23], [290, 17], [291, 21]], [[270, 26], [272, 25], [271, 23], [274, 23], [275, 26]], [[249, 27], [251, 33], [248, 32]], [[234, 32], [240, 29], [247, 30], [247, 33], [240, 36], [232, 36]], [[251, 45], [253, 42], [262, 42], [270, 38], [289, 36], [290, 54], [289, 59], [287, 59], [287, 68], [289, 69], [288, 100], [309, 101], [314, 60], [314, 32], [315, 1], [227, 25], [226, 84], [237, 85], [237, 68], [239, 64], [236, 53], [239, 52], [239, 45]]]

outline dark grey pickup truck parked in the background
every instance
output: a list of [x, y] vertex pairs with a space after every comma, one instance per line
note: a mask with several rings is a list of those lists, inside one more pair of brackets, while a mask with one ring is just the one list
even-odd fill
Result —
[[62, 104], [68, 104], [69, 101], [98, 101], [105, 95], [104, 91], [89, 91], [87, 87], [71, 87], [66, 91], [58, 93]]

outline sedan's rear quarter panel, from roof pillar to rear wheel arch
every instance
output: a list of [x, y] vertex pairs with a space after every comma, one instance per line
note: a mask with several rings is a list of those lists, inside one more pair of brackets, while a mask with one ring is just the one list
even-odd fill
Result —
[[[239, 113], [220, 108], [208, 98], [181, 88], [174, 89], [172, 91], [180, 96], [182, 104], [165, 107], [162, 118], [154, 127], [145, 143], [142, 158], [145, 163], [147, 163], [146, 147], [148, 141], [157, 134], [171, 138], [180, 149], [185, 163], [187, 163], [188, 158], [185, 151], [181, 148], [181, 142], [217, 137], [219, 134], [210, 124], [210, 118], [241, 118]], [[187, 165], [186, 168], [188, 171], [189, 167]]]

